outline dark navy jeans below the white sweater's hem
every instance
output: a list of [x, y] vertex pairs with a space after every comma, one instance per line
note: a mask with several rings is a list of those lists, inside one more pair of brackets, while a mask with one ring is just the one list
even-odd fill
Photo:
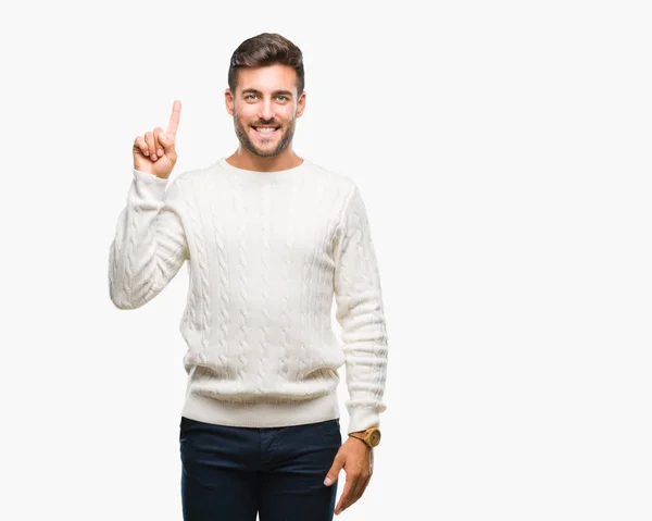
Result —
[[181, 417], [185, 521], [331, 521], [338, 482], [324, 485], [341, 446], [339, 420], [233, 427]]

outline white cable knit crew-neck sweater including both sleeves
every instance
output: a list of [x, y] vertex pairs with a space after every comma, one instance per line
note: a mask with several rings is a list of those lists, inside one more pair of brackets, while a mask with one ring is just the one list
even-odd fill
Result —
[[[109, 255], [120, 309], [154, 298], [188, 261], [181, 414], [269, 427], [339, 418], [379, 425], [387, 333], [360, 189], [309, 160], [278, 172], [226, 158], [174, 181], [133, 171]], [[333, 298], [341, 340], [331, 325]]]

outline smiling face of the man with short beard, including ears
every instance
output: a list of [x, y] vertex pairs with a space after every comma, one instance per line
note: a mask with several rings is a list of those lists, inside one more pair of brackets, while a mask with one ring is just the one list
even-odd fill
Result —
[[297, 72], [288, 65], [241, 69], [235, 92], [225, 91], [241, 146], [254, 156], [278, 156], [292, 141], [305, 92], [297, 99]]

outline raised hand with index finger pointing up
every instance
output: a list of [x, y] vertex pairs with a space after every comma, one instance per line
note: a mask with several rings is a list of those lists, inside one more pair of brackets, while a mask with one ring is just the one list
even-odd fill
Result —
[[146, 132], [134, 141], [134, 168], [166, 179], [177, 160], [175, 150], [176, 132], [181, 116], [181, 102], [175, 100], [167, 129], [158, 126], [153, 132]]

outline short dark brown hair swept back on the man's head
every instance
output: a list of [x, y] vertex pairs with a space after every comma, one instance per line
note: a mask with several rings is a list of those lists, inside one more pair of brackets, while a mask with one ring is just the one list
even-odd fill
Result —
[[246, 39], [234, 51], [228, 66], [228, 88], [236, 94], [238, 71], [242, 67], [260, 67], [280, 63], [297, 71], [297, 97], [305, 85], [303, 54], [294, 44], [276, 33], [262, 33]]

